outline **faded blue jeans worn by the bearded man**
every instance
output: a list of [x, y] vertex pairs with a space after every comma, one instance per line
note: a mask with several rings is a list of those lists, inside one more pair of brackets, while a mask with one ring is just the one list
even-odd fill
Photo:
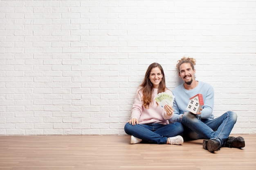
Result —
[[220, 142], [220, 146], [225, 144], [229, 134], [236, 123], [237, 115], [233, 111], [228, 111], [216, 119], [198, 119], [191, 112], [186, 112], [181, 123], [185, 127], [185, 138], [188, 139], [215, 139]]

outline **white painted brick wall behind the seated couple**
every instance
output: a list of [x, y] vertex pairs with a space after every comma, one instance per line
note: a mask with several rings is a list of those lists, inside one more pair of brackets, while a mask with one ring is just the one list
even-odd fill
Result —
[[152, 62], [197, 59], [231, 133], [256, 133], [255, 0], [1, 0], [0, 135], [124, 135]]

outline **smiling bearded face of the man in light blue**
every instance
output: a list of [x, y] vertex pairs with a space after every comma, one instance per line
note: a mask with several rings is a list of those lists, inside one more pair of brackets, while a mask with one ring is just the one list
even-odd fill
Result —
[[185, 84], [191, 85], [191, 83], [195, 79], [194, 74], [195, 70], [193, 70], [192, 66], [189, 63], [183, 63], [180, 65], [179, 76], [183, 79]]

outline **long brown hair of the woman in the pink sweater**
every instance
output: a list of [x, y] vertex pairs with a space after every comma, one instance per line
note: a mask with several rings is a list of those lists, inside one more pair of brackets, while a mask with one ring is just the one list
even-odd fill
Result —
[[149, 104], [153, 101], [153, 84], [150, 82], [150, 79], [149, 79], [149, 75], [150, 75], [150, 72], [153, 68], [155, 67], [158, 67], [160, 70], [161, 70], [161, 73], [163, 74], [163, 78], [159, 84], [159, 87], [158, 87], [158, 91], [157, 93], [161, 93], [161, 92], [164, 92], [166, 90], [166, 84], [165, 84], [165, 76], [164, 76], [164, 69], [162, 68], [162, 66], [156, 62], [150, 64], [148, 66], [148, 69], [145, 73], [145, 77], [144, 77], [144, 80], [143, 82], [141, 83], [141, 89], [140, 91], [142, 91], [142, 94], [143, 94], [143, 106], [145, 108], [148, 108]]

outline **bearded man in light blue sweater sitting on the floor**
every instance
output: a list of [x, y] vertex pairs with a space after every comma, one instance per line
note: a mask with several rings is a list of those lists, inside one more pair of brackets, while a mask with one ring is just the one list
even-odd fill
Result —
[[[237, 115], [233, 111], [227, 111], [214, 119], [213, 100], [214, 91], [210, 84], [195, 81], [195, 59], [183, 57], [176, 67], [183, 84], [173, 89], [175, 100], [173, 103], [174, 115], [170, 122], [181, 122], [184, 125], [184, 139], [207, 139], [203, 141], [203, 148], [209, 152], [220, 150], [220, 147], [243, 148], [243, 137], [229, 137], [236, 123]], [[193, 114], [186, 107], [189, 99], [197, 94], [202, 94], [204, 105], [200, 112]]]

